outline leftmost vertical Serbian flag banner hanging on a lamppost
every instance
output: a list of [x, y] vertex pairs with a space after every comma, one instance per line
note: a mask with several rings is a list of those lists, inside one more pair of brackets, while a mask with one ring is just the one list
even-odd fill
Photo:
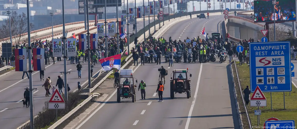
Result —
[[15, 49], [15, 71], [27, 71], [26, 49]]

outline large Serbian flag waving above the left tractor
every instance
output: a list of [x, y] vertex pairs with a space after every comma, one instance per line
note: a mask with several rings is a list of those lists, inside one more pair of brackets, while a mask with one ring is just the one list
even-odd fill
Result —
[[121, 70], [121, 54], [99, 59], [99, 62], [101, 63], [101, 70], [103, 71], [111, 70], [112, 68]]

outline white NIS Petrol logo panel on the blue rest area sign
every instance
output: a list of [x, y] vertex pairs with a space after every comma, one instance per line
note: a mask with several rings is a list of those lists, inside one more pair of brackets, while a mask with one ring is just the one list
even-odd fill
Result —
[[256, 57], [256, 67], [262, 66], [285, 66], [285, 57]]

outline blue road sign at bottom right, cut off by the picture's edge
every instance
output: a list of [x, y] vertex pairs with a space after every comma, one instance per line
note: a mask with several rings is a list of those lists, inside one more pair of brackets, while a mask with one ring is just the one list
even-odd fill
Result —
[[266, 129], [295, 129], [294, 120], [265, 121]]

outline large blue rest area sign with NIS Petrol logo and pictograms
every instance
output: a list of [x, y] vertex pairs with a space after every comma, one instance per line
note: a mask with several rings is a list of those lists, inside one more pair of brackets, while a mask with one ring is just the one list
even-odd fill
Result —
[[251, 92], [292, 91], [289, 41], [251, 42], [249, 54]]

